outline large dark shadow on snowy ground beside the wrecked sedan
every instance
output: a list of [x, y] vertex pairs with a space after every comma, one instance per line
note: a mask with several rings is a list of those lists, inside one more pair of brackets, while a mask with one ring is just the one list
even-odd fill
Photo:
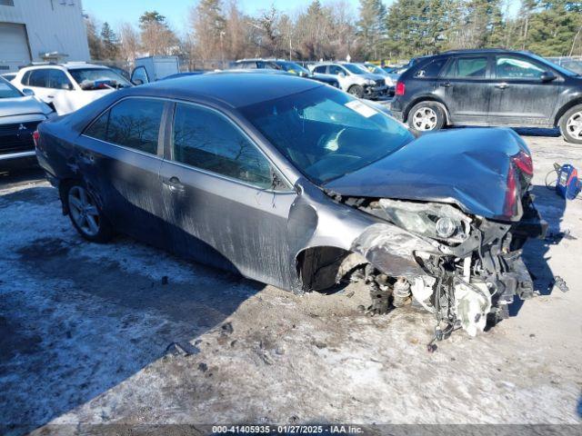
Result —
[[[106, 247], [86, 243], [60, 214], [52, 188], [6, 194], [0, 211], [23, 217], [23, 242], [4, 238], [12, 245], [0, 256], [3, 435], [42, 426], [167, 353], [196, 353], [197, 336], [224, 325], [264, 287], [123, 237]], [[111, 256], [91, 254], [103, 250]], [[151, 266], [128, 269], [132, 256]]]

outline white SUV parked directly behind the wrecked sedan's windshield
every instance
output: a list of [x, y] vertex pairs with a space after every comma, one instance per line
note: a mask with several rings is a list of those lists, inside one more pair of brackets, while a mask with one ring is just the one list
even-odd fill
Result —
[[377, 98], [386, 95], [387, 86], [384, 77], [368, 73], [357, 64], [324, 63], [312, 65], [316, 74], [332, 74], [337, 77], [341, 88], [346, 93], [358, 98]]

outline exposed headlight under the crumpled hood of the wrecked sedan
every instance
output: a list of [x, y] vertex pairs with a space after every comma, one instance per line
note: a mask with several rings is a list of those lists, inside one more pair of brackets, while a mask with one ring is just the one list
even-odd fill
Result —
[[389, 221], [408, 232], [449, 243], [462, 243], [467, 239], [471, 220], [450, 204], [411, 203], [388, 199], [382, 199], [378, 203]]

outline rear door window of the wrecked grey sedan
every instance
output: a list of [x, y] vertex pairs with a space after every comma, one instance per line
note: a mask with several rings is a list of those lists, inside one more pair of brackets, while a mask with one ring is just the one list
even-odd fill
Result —
[[102, 114], [85, 130], [85, 135], [157, 154], [163, 112], [164, 102], [161, 100], [128, 98]]

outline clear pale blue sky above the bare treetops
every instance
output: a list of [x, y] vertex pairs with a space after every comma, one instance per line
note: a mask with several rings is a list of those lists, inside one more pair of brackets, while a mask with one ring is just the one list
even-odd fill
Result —
[[[294, 12], [309, 5], [312, 0], [238, 0], [238, 5], [246, 14], [255, 14], [262, 9], [275, 5], [277, 9]], [[347, 0], [357, 11], [358, 0]], [[326, 3], [324, 0], [322, 3]], [[386, 2], [392, 3], [392, 1]], [[122, 22], [137, 25], [138, 18], [146, 11], [156, 10], [165, 15], [168, 23], [177, 32], [186, 31], [188, 13], [196, 0], [83, 0], [85, 14], [94, 15], [100, 22], [108, 22], [116, 28]]]

